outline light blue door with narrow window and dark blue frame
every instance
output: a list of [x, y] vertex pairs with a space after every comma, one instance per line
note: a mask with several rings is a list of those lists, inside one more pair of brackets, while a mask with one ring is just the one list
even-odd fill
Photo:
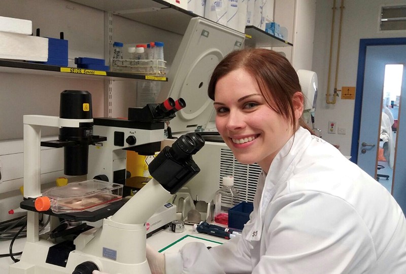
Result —
[[[377, 166], [379, 147], [382, 146], [381, 118], [383, 117], [385, 68], [386, 65], [390, 64], [403, 65], [398, 102], [399, 112], [396, 131], [393, 132], [392, 139], [394, 144], [393, 169], [390, 171], [388, 180], [381, 178], [379, 181], [392, 193], [402, 207], [403, 212], [406, 212], [406, 118], [404, 117], [406, 111], [401, 111], [400, 106], [401, 102], [403, 104], [406, 102], [406, 99], [402, 99], [406, 96], [406, 73], [404, 69], [404, 65], [406, 65], [406, 45], [369, 45], [365, 47], [364, 58], [364, 61], [359, 64], [364, 65], [362, 75], [360, 75], [360, 67], [358, 68], [357, 93], [360, 94], [357, 94], [358, 98], [356, 98], [351, 154], [353, 161], [359, 167], [370, 176], [379, 178], [377, 173], [380, 173], [380, 171], [377, 171]], [[361, 80], [362, 83], [359, 83]], [[359, 125], [358, 132], [357, 124]], [[354, 138], [357, 138], [357, 133], [359, 137], [354, 140]], [[388, 167], [385, 168], [388, 169]]]

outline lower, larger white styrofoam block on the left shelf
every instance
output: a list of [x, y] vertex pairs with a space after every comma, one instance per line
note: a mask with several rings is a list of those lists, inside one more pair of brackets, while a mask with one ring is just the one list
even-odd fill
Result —
[[0, 31], [0, 58], [48, 61], [48, 38]]

